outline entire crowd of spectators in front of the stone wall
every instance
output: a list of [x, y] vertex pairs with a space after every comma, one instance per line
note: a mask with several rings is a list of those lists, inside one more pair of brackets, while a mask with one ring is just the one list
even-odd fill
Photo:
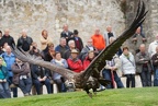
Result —
[[[10, 98], [11, 91], [13, 97], [18, 97], [18, 87], [24, 96], [29, 96], [34, 86], [35, 93], [32, 94], [40, 95], [43, 93], [43, 85], [46, 86], [47, 93], [52, 94], [54, 91], [52, 81], [57, 84], [58, 92], [67, 92], [64, 76], [41, 66], [21, 61], [12, 52], [11, 47], [16, 46], [31, 56], [80, 73], [87, 69], [97, 55], [116, 39], [112, 26], [106, 26], [104, 35], [95, 28], [94, 34], [83, 45], [78, 30], [70, 32], [68, 25], [64, 25], [58, 45], [54, 45], [48, 32], [44, 30], [40, 38], [41, 48], [38, 48], [33, 38], [27, 36], [26, 30], [23, 30], [21, 34], [22, 36], [15, 43], [9, 30], [4, 30], [4, 34], [0, 31], [0, 98]], [[135, 87], [135, 74], [139, 74], [143, 86], [151, 86], [151, 72], [154, 72], [154, 85], [158, 86], [158, 35], [156, 35], [156, 40], [150, 43], [148, 51], [142, 26], [137, 28], [132, 38], [134, 44], [138, 42], [137, 36], [142, 36], [142, 44], [136, 52], [132, 54], [125, 46], [119, 49], [112, 60], [105, 60], [106, 64], [101, 74], [111, 83], [101, 87], [124, 87], [117, 73], [120, 70], [126, 76], [126, 87]], [[12, 84], [16, 87], [10, 90]]]

